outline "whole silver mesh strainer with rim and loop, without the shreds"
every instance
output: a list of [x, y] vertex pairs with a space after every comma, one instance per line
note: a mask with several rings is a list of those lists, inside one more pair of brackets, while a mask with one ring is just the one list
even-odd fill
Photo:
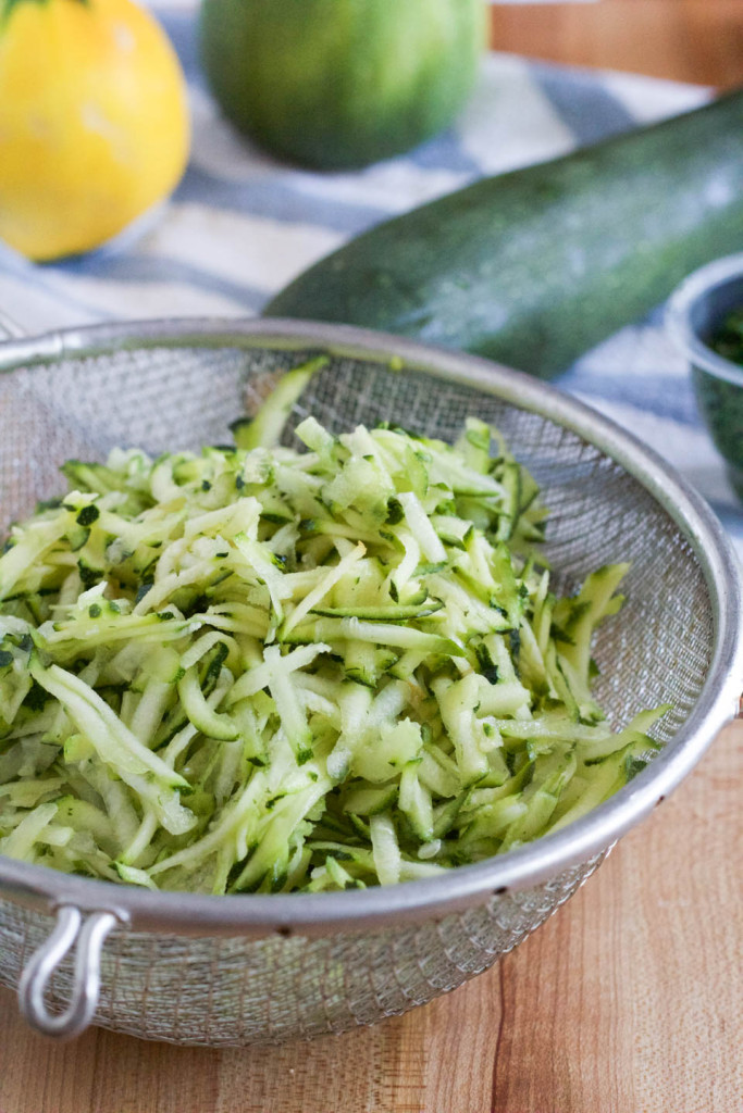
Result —
[[335, 431], [393, 420], [453, 439], [500, 426], [551, 510], [547, 555], [571, 591], [630, 561], [628, 602], [596, 646], [597, 695], [626, 720], [668, 701], [655, 760], [594, 812], [441, 878], [313, 895], [150, 893], [0, 857], [0, 982], [40, 1030], [94, 1022], [178, 1043], [277, 1043], [371, 1024], [489, 967], [565, 902], [698, 759], [741, 690], [734, 556], [706, 505], [653, 453], [577, 402], [480, 359], [287, 322], [97, 326], [0, 347], [3, 523], [59, 491], [69, 456], [229, 439], [277, 377], [331, 357], [293, 415]]

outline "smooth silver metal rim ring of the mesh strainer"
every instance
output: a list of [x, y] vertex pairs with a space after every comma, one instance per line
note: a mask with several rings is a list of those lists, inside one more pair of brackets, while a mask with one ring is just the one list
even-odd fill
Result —
[[107, 909], [137, 930], [178, 935], [319, 935], [442, 916], [482, 904], [493, 894], [531, 888], [605, 851], [677, 787], [734, 717], [743, 687], [743, 594], [732, 544], [686, 480], [653, 449], [585, 403], [480, 356], [346, 325], [282, 318], [166, 318], [61, 329], [0, 345], [0, 373], [144, 346], [310, 347], [387, 364], [394, 356], [408, 370], [493, 394], [565, 426], [629, 472], [692, 545], [713, 608], [710, 669], [672, 742], [609, 800], [554, 835], [441, 877], [342, 893], [212, 896], [129, 888], [0, 855], [0, 898], [43, 910], [67, 905], [84, 912]]

